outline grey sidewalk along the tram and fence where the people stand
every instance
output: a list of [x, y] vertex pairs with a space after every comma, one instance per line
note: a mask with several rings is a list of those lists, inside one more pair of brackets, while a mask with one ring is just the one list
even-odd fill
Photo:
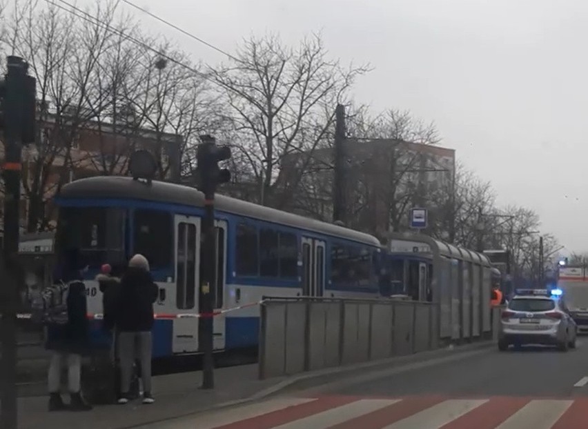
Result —
[[182, 372], [154, 377], [155, 404], [144, 406], [140, 401], [126, 406], [98, 406], [90, 412], [48, 412], [47, 397], [19, 399], [19, 429], [126, 429], [177, 419], [218, 406], [229, 406], [239, 401], [293, 393], [297, 390], [322, 386], [333, 381], [356, 377], [378, 377], [381, 371], [403, 366], [435, 364], [440, 359], [458, 359], [460, 355], [492, 346], [481, 341], [466, 346], [421, 352], [415, 355], [393, 357], [380, 361], [357, 363], [344, 367], [326, 368], [291, 377], [259, 380], [257, 363], [215, 370], [215, 389], [200, 390], [202, 372]]

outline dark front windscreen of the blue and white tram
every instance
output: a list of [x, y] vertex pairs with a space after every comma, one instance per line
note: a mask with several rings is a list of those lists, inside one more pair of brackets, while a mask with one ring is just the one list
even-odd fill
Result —
[[106, 207], [62, 207], [56, 248], [79, 250], [81, 268], [99, 268], [124, 259], [126, 210]]

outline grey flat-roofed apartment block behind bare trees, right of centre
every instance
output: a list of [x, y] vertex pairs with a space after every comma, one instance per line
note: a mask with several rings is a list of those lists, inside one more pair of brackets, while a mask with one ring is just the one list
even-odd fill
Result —
[[[451, 203], [453, 149], [393, 139], [347, 139], [343, 150], [344, 223], [352, 228], [380, 236], [406, 230], [411, 207], [434, 214]], [[296, 189], [288, 210], [332, 221], [333, 159], [333, 148], [284, 159], [278, 180], [283, 188]]]

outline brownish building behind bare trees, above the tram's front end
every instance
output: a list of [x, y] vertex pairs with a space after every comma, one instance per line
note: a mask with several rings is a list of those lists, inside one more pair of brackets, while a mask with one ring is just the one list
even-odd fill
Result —
[[[77, 122], [77, 123], [76, 123]], [[149, 150], [157, 160], [158, 179], [179, 181], [182, 137], [129, 126], [45, 114], [37, 123], [37, 142], [23, 148], [21, 230], [37, 232], [55, 227], [52, 197], [63, 184], [97, 175], [120, 175], [128, 170], [135, 150]], [[0, 160], [4, 157], [0, 145]], [[3, 183], [0, 183], [0, 231]]]

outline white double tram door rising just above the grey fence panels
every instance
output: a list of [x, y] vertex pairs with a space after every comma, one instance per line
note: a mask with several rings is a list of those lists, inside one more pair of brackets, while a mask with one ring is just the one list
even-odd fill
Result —
[[323, 296], [324, 265], [324, 241], [302, 237], [302, 296]]

